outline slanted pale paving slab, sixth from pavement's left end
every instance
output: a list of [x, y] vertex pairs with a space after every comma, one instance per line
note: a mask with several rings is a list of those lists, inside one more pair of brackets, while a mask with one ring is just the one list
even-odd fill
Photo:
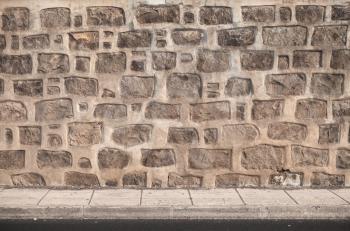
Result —
[[295, 205], [283, 190], [237, 189], [247, 205]]

